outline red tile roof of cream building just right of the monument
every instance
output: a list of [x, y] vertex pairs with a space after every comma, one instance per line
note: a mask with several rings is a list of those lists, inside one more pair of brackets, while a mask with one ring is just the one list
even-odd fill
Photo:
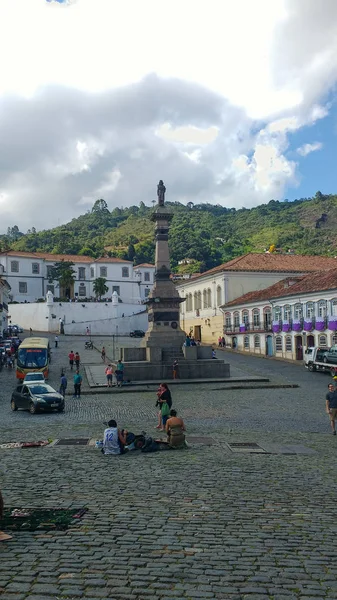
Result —
[[302, 254], [250, 253], [201, 273], [200, 277], [222, 271], [257, 271], [269, 273], [305, 273], [337, 268], [337, 259]]

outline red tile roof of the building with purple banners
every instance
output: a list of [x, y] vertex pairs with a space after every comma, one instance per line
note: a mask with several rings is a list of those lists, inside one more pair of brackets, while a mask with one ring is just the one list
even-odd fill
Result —
[[[295, 282], [295, 283], [294, 283]], [[324, 292], [327, 290], [337, 290], [337, 268], [324, 271], [323, 273], [310, 273], [302, 277], [287, 277], [264, 290], [248, 292], [227, 304], [225, 308], [242, 304], [252, 304], [263, 300], [272, 300], [274, 298], [286, 298], [310, 294], [314, 292]]]

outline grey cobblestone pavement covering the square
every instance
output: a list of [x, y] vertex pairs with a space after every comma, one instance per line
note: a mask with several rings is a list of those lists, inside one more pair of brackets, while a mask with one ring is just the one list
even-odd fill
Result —
[[[83, 342], [61, 338], [52, 385], [68, 347]], [[91, 361], [100, 360], [95, 352]], [[83, 360], [89, 354], [82, 351]], [[1, 600], [337, 598], [337, 440], [324, 413], [330, 379], [227, 356], [235, 375], [301, 387], [175, 389], [188, 432], [212, 437], [211, 446], [120, 457], [90, 447], [0, 449], [8, 506], [89, 509], [66, 532], [14, 533], [0, 543]], [[64, 414], [30, 415], [11, 413], [13, 385], [13, 373], [2, 371], [1, 441], [101, 437], [102, 421], [115, 415], [130, 430], [154, 431], [153, 391], [67, 397]], [[226, 442], [301, 444], [316, 453], [234, 454]]]

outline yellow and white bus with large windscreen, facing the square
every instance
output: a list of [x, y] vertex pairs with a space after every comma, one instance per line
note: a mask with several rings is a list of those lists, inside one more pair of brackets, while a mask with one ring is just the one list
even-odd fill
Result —
[[18, 348], [16, 377], [24, 379], [27, 373], [42, 372], [48, 378], [50, 345], [48, 338], [26, 338]]

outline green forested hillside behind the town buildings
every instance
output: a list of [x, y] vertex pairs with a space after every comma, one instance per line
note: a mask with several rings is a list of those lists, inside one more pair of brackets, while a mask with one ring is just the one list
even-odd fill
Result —
[[[245, 252], [263, 252], [274, 245], [298, 254], [337, 254], [337, 195], [317, 192], [314, 198], [294, 202], [271, 200], [252, 209], [212, 204], [187, 206], [170, 203], [174, 217], [170, 230], [174, 270], [204, 271]], [[135, 263], [154, 260], [152, 207], [115, 208], [97, 200], [91, 211], [66, 225], [26, 234], [18, 226], [0, 236], [2, 250], [109, 254]], [[178, 267], [178, 261], [193, 262]]]

